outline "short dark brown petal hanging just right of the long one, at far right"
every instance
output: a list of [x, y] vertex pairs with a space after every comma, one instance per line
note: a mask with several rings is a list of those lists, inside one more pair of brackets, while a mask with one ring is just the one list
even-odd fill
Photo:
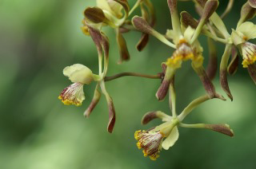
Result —
[[239, 57], [238, 57], [238, 51], [236, 47], [233, 45], [231, 49], [231, 61], [230, 65], [227, 67], [227, 72], [230, 75], [234, 75], [238, 69], [238, 64], [239, 64]]

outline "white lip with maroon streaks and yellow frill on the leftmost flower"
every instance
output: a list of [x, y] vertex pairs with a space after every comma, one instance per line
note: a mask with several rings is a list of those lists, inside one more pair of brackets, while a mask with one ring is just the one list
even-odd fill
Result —
[[74, 83], [64, 88], [61, 94], [58, 96], [58, 99], [62, 100], [62, 103], [66, 105], [82, 105], [82, 100], [86, 99], [83, 92], [83, 84]]

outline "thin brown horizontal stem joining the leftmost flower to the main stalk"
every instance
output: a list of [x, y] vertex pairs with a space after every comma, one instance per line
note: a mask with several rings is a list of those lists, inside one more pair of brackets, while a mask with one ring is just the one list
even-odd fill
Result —
[[160, 74], [158, 75], [146, 75], [141, 73], [118, 73], [112, 77], [105, 77], [104, 81], [113, 81], [114, 79], [118, 79], [119, 77], [145, 77], [150, 79], [161, 79], [162, 76]]

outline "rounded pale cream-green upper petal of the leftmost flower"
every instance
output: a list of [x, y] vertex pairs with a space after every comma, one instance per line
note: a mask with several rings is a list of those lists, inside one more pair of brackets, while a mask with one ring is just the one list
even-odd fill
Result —
[[74, 83], [90, 84], [94, 80], [92, 71], [82, 64], [74, 64], [63, 69], [63, 74]]

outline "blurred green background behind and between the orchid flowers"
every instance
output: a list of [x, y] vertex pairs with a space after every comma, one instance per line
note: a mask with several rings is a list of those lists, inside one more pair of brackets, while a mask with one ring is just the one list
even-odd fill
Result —
[[[166, 1], [154, 1], [156, 29], [170, 29]], [[130, 6], [134, 4], [130, 0]], [[220, 0], [218, 13], [227, 0]], [[226, 26], [236, 26], [245, 0], [235, 0], [225, 18]], [[89, 119], [83, 112], [90, 104], [95, 84], [86, 85], [82, 107], [66, 106], [58, 94], [70, 81], [62, 75], [67, 65], [81, 63], [97, 73], [98, 56], [90, 37], [82, 34], [82, 11], [95, 6], [93, 0], [0, 0], [0, 168], [1, 169], [98, 169], [98, 168], [255, 168], [256, 113], [255, 85], [242, 65], [229, 77], [234, 101], [210, 100], [185, 120], [188, 124], [230, 124], [230, 138], [202, 129], [180, 128], [180, 137], [169, 151], [161, 151], [157, 161], [143, 157], [136, 147], [134, 132], [161, 124], [155, 120], [141, 126], [145, 112], [161, 110], [170, 114], [168, 100], [158, 102], [158, 80], [122, 77], [106, 83], [114, 99], [117, 121], [114, 133], [106, 132], [108, 111], [104, 97]], [[192, 2], [180, 2], [179, 11], [194, 13]], [[135, 14], [140, 14], [139, 10]], [[155, 74], [173, 52], [154, 37], [143, 52], [135, 45], [140, 33], [126, 33], [131, 60], [117, 65], [119, 58], [113, 29], [110, 37], [108, 76], [121, 72]], [[200, 37], [205, 46], [206, 37]], [[218, 58], [224, 46], [218, 44]], [[241, 63], [241, 61], [240, 61]], [[203, 95], [199, 78], [190, 63], [182, 65], [176, 78], [178, 112]], [[217, 91], [226, 96], [214, 80]]]

